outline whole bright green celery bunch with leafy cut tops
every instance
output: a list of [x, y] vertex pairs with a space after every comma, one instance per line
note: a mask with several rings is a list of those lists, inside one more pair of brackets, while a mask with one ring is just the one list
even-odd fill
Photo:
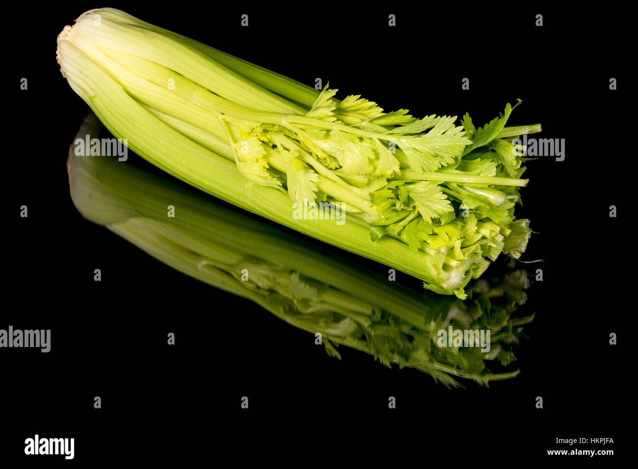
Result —
[[514, 220], [524, 148], [512, 140], [540, 126], [505, 127], [509, 104], [479, 129], [467, 114], [457, 126], [386, 113], [110, 8], [66, 26], [57, 59], [105, 126], [159, 168], [433, 291], [464, 298], [489, 261], [526, 247], [528, 220]]

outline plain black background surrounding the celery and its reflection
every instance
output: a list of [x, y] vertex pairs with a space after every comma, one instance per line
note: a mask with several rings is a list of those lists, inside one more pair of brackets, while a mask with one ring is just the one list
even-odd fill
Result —
[[[97, 6], [13, 6], [14, 32], [4, 39], [5, 142], [13, 144], [4, 153], [0, 328], [51, 329], [52, 348], [0, 350], [0, 461], [216, 463], [225, 455], [239, 464], [292, 456], [298, 464], [469, 458], [516, 465], [559, 458], [546, 450], [572, 449], [555, 441], [574, 437], [612, 437], [604, 449], [622, 452], [634, 410], [627, 329], [635, 311], [626, 12], [110, 5], [299, 82], [320, 77], [341, 90], [338, 97], [361, 94], [387, 110], [470, 112], [478, 127], [520, 98], [509, 125], [540, 122], [543, 138], [565, 138], [565, 161], [528, 163], [530, 184], [516, 212], [538, 232], [524, 258], [545, 259], [533, 267], [544, 281], [530, 290], [537, 314], [526, 326], [530, 340], [516, 349], [522, 373], [489, 389], [463, 382], [466, 389], [450, 390], [345, 347], [341, 361], [332, 359], [313, 335], [82, 218], [65, 162], [88, 108], [60, 75], [55, 48], [64, 25]], [[240, 25], [243, 13], [249, 27]], [[387, 25], [390, 13], [396, 27]], [[20, 90], [23, 77], [28, 90]], [[465, 77], [470, 90], [461, 89]], [[618, 90], [609, 90], [611, 77]], [[609, 217], [610, 205], [618, 218]], [[93, 281], [95, 268], [101, 282]], [[397, 280], [414, 284], [405, 275]], [[609, 345], [611, 332], [619, 345]], [[241, 396], [249, 396], [248, 410]], [[24, 457], [24, 440], [35, 433], [74, 437], [75, 459]]]

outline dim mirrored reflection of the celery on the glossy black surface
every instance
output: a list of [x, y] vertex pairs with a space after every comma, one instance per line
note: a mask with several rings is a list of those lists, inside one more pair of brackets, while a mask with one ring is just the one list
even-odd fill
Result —
[[[78, 138], [108, 136], [89, 115]], [[115, 157], [68, 159], [71, 197], [85, 218], [103, 224], [173, 268], [207, 284], [251, 299], [298, 328], [321, 333], [327, 352], [365, 351], [387, 366], [398, 363], [429, 373], [447, 386], [454, 376], [482, 384], [518, 372], [491, 373], [486, 359], [508, 364], [510, 343], [531, 317], [512, 320], [525, 301], [528, 279], [514, 271], [494, 282], [471, 282], [468, 299], [427, 292], [425, 301], [384, 277], [356, 270], [338, 256], [217, 205], [201, 193], [145, 173]], [[175, 217], [167, 207], [175, 207]], [[498, 280], [498, 279], [497, 279]], [[436, 332], [489, 329], [491, 350], [436, 345]]]

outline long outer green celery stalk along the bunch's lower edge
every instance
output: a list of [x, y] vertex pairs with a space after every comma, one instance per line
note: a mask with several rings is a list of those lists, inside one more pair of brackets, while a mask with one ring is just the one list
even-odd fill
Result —
[[[241, 208], [426, 282], [445, 285], [450, 278], [449, 273], [435, 268], [431, 256], [412, 252], [404, 243], [390, 238], [372, 242], [366, 229], [347, 220], [338, 226], [334, 222], [293, 219], [293, 202], [286, 194], [246, 180], [230, 161], [168, 127], [126, 94], [121, 85], [71, 41], [59, 41], [58, 52], [71, 87], [108, 130], [117, 138], [128, 138], [131, 150], [170, 175]], [[446, 289], [451, 294], [460, 284], [457, 281]]]

